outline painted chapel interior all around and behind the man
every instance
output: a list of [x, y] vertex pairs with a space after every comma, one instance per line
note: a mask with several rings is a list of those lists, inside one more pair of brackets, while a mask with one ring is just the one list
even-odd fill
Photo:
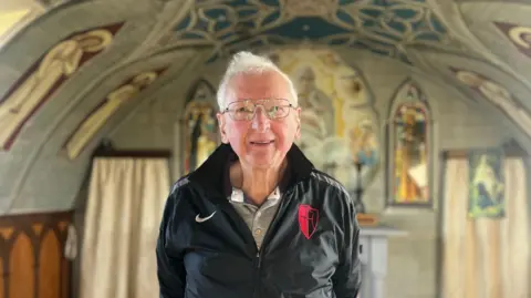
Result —
[[[158, 297], [230, 55], [294, 82], [361, 298], [531, 298], [531, 1], [1, 0], [0, 298]], [[289, 270], [290, 268], [285, 268]]]

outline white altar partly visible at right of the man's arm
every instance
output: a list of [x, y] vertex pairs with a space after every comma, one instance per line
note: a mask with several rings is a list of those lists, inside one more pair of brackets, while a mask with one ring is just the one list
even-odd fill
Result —
[[362, 226], [360, 259], [362, 261], [362, 290], [358, 298], [384, 298], [387, 276], [387, 242], [389, 237], [407, 233], [385, 225]]

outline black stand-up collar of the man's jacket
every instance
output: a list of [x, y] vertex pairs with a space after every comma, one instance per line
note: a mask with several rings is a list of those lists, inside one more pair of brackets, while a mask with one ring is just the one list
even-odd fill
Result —
[[[310, 176], [313, 164], [304, 156], [302, 151], [293, 144], [285, 155], [288, 158], [288, 176], [283, 179], [281, 188], [288, 189]], [[227, 202], [226, 183], [228, 168], [231, 162], [238, 160], [230, 144], [219, 145], [212, 154], [194, 172], [188, 175], [188, 181], [197, 184], [216, 199]]]

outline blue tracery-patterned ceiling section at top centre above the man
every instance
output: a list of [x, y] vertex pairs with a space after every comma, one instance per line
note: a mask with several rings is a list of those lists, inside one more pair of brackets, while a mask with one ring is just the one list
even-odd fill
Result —
[[407, 47], [455, 45], [424, 0], [197, 0], [169, 42], [211, 45], [209, 61], [243, 49], [311, 42], [409, 63]]

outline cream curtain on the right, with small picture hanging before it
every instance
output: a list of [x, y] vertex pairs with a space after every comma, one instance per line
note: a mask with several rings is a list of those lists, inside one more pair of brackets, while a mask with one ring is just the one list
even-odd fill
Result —
[[520, 158], [504, 161], [506, 217], [469, 219], [468, 161], [446, 163], [442, 297], [529, 298], [530, 227], [527, 175]]

